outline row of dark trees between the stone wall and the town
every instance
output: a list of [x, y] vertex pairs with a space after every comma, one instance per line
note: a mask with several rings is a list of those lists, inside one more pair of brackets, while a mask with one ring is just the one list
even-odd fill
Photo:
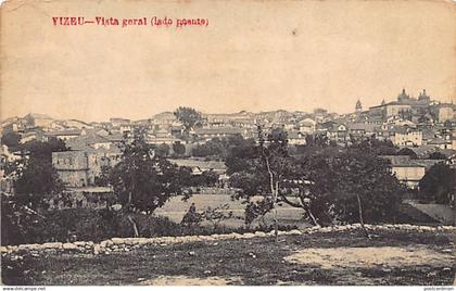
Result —
[[[407, 189], [380, 157], [397, 152], [391, 142], [369, 138], [339, 147], [316, 137], [291, 152], [286, 131], [258, 127], [257, 134], [256, 140], [239, 136], [214, 141], [223, 144], [229, 185], [237, 189], [233, 199], [245, 202], [246, 225], [273, 212], [277, 230], [277, 205], [283, 203], [302, 208], [304, 218], [319, 226], [395, 219]], [[218, 179], [215, 173], [193, 177], [190, 168], [170, 163], [144, 142], [140, 130], [121, 148], [122, 161], [104, 169], [102, 180], [113, 188], [136, 236], [139, 227], [131, 214], [151, 215], [173, 195], [189, 198], [192, 186]], [[33, 225], [37, 216], [47, 215], [49, 199], [65, 189], [52, 168], [52, 152], [67, 150], [63, 141], [31, 141], [20, 149], [23, 159], [4, 165], [5, 174], [15, 177], [15, 193], [2, 193], [2, 230], [8, 224], [15, 229]], [[420, 195], [449, 203], [455, 178], [454, 168], [436, 164], [420, 181]]]

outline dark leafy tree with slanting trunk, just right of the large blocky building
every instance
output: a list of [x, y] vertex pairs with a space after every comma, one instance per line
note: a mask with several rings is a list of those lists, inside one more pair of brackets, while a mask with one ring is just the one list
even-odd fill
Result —
[[142, 135], [136, 134], [131, 143], [124, 144], [123, 159], [111, 170], [110, 184], [127, 213], [135, 236], [139, 236], [138, 226], [128, 214], [152, 214], [172, 195], [181, 194], [189, 186], [190, 177], [189, 168], [178, 167], [154, 154]]

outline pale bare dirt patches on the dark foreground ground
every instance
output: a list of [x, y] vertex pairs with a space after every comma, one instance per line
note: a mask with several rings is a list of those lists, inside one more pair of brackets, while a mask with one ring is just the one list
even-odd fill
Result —
[[[419, 266], [451, 268], [455, 262], [453, 249], [435, 251], [426, 245], [414, 246], [365, 246], [365, 248], [309, 248], [283, 257], [296, 266], [308, 265], [308, 271], [320, 268], [339, 274], [341, 284], [385, 284], [387, 278], [363, 276], [360, 269], [392, 271], [394, 268], [414, 270]], [[300, 269], [300, 268], [297, 268]], [[307, 267], [305, 267], [307, 271]], [[299, 271], [293, 270], [295, 274]], [[302, 269], [300, 270], [303, 271]], [[304, 271], [304, 273], [305, 273]], [[226, 286], [243, 284], [239, 277], [188, 277], [160, 276], [154, 279], [140, 278], [142, 286]], [[289, 280], [277, 280], [276, 284], [301, 284]]]

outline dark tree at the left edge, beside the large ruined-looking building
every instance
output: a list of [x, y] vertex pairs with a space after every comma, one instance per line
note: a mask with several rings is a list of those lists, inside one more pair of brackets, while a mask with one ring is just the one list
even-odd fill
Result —
[[[63, 142], [30, 141], [22, 147], [22, 157], [5, 165], [13, 175], [14, 194], [2, 193], [1, 236], [8, 244], [24, 243], [42, 236], [49, 200], [59, 197], [64, 185], [52, 167], [52, 152], [66, 150]], [[45, 227], [46, 228], [46, 227]]]

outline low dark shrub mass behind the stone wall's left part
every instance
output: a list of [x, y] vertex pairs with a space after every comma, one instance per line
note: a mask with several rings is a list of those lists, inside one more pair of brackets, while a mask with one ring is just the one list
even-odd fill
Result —
[[[3, 216], [3, 213], [2, 213]], [[42, 217], [22, 219], [21, 228], [2, 217], [2, 245], [43, 242], [94, 241], [134, 237], [131, 222], [141, 237], [179, 236], [183, 229], [166, 217], [89, 208], [55, 210]], [[33, 220], [36, 223], [30, 223]]]

